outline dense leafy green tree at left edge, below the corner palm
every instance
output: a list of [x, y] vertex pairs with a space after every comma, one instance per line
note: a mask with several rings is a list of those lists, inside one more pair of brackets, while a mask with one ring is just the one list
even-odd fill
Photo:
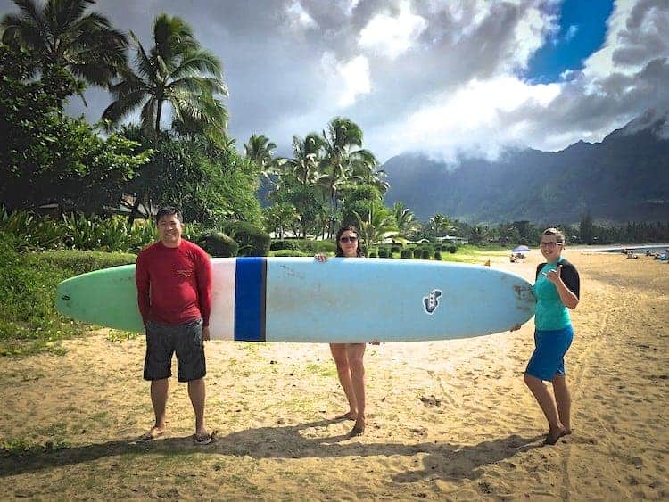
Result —
[[36, 71], [37, 64], [27, 49], [0, 44], [0, 202], [87, 213], [117, 207], [121, 187], [152, 152], [136, 154], [136, 143], [103, 138], [86, 120], [64, 115], [75, 78], [55, 65]]

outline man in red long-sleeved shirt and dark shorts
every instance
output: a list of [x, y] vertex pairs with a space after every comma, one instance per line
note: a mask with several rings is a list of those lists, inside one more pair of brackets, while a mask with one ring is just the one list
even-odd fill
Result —
[[144, 378], [151, 381], [155, 424], [138, 440], [153, 440], [166, 430], [165, 406], [172, 354], [178, 381], [188, 383], [195, 412], [195, 441], [209, 444], [204, 424], [204, 341], [209, 340], [211, 261], [194, 243], [181, 238], [183, 218], [173, 207], [156, 215], [160, 241], [137, 256], [137, 302], [146, 330]]

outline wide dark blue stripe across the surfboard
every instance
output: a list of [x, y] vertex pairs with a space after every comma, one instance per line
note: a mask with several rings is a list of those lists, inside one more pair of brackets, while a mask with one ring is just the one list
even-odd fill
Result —
[[267, 262], [262, 257], [235, 262], [235, 340], [265, 341]]

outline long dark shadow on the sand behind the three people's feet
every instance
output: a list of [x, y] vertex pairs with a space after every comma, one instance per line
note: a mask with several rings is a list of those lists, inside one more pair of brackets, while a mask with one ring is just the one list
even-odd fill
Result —
[[[99, 444], [63, 448], [26, 455], [0, 454], [0, 478], [22, 473], [77, 465], [103, 457], [121, 455], [190, 455], [204, 453], [219, 456], [260, 458], [329, 458], [329, 457], [376, 457], [402, 456], [423, 459], [423, 470], [399, 473], [392, 477], [395, 482], [414, 482], [424, 478], [475, 479], [480, 475], [479, 467], [499, 462], [516, 454], [541, 446], [543, 436], [522, 438], [510, 435], [506, 438], [482, 441], [476, 445], [458, 445], [447, 441], [431, 441], [416, 444], [388, 442], [360, 442], [347, 435], [330, 437], [306, 437], [302, 431], [323, 428], [332, 420], [320, 420], [307, 424], [277, 427], [260, 427], [218, 435], [207, 446], [194, 444], [193, 436], [168, 437], [150, 442], [136, 443], [134, 440], [115, 440]], [[426, 456], [425, 456], [426, 454]]]

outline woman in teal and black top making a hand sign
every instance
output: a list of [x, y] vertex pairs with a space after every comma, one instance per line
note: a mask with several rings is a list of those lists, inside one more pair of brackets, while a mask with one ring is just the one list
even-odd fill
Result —
[[[567, 309], [575, 309], [580, 296], [578, 271], [562, 258], [565, 235], [547, 228], [541, 235], [541, 254], [546, 259], [536, 270], [533, 293], [534, 352], [527, 364], [524, 382], [532, 391], [549, 422], [545, 444], [554, 445], [571, 434], [571, 396], [566, 385], [565, 354], [574, 339]], [[514, 328], [518, 329], [520, 326]], [[513, 331], [513, 330], [512, 330]], [[555, 399], [543, 381], [553, 384]]]

